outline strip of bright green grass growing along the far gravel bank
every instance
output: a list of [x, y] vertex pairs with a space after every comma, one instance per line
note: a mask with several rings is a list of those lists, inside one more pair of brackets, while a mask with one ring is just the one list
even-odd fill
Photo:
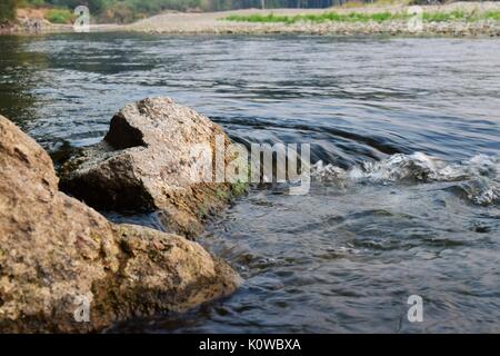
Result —
[[[349, 12], [349, 13], [338, 13], [338, 12], [323, 12], [317, 14], [296, 14], [296, 16], [283, 16], [283, 14], [260, 14], [253, 13], [249, 16], [232, 14], [222, 20], [226, 21], [239, 21], [239, 22], [260, 22], [260, 23], [297, 23], [297, 22], [386, 22], [394, 20], [408, 20], [411, 16], [407, 13], [391, 13], [391, 12], [376, 12], [376, 13], [361, 13], [361, 12]], [[424, 12], [422, 14], [424, 22], [447, 22], [447, 21], [478, 21], [478, 20], [500, 20], [500, 11], [489, 11], [481, 14], [477, 13], [466, 13], [462, 11], [452, 12]]]

